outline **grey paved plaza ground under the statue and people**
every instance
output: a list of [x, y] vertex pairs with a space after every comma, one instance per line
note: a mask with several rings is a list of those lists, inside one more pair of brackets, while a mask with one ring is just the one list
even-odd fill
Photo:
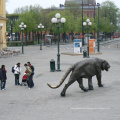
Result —
[[[5, 64], [7, 70], [6, 90], [0, 90], [0, 120], [120, 120], [120, 42], [100, 48], [102, 54], [90, 58], [103, 58], [111, 66], [108, 72], [102, 72], [104, 87], [99, 88], [93, 77], [93, 91], [83, 92], [75, 82], [67, 89], [66, 97], [60, 93], [69, 76], [58, 89], [49, 88], [47, 83], [57, 85], [72, 64], [89, 58], [61, 54], [61, 72], [50, 72], [50, 60], [57, 61], [57, 45], [43, 46], [42, 50], [38, 45], [25, 46], [24, 54], [0, 58], [0, 65]], [[73, 43], [60, 45], [60, 53], [67, 52], [73, 52]], [[30, 90], [27, 86], [15, 86], [11, 72], [12, 66], [20, 62], [21, 82], [24, 63], [28, 61], [35, 67], [35, 86]], [[87, 79], [84, 86], [88, 87]]]

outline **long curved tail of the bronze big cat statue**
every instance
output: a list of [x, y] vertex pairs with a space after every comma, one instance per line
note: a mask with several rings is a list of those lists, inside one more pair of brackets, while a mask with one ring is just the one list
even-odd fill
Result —
[[48, 83], [47, 83], [47, 85], [48, 85], [50, 88], [52, 88], [52, 89], [55, 89], [55, 88], [60, 87], [60, 86], [62, 85], [62, 83], [65, 81], [65, 79], [67, 78], [67, 76], [69, 75], [69, 73], [74, 70], [74, 67], [75, 67], [75, 65], [71, 66], [71, 67], [67, 70], [67, 72], [65, 73], [65, 75], [63, 76], [63, 78], [61, 79], [60, 83], [59, 83], [57, 86], [51, 86], [51, 85], [48, 84]]

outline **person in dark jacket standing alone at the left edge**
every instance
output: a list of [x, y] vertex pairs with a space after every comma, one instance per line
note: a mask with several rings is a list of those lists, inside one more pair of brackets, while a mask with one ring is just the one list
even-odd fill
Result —
[[5, 85], [7, 80], [6, 73], [7, 71], [5, 70], [5, 65], [2, 65], [0, 69], [1, 90], [5, 90]]

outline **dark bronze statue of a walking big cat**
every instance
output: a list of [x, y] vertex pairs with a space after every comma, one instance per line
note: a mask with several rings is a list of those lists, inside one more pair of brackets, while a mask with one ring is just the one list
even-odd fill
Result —
[[[80, 62], [77, 62], [76, 64], [72, 65], [65, 75], [63, 76], [62, 80], [60, 81], [59, 85], [57, 86], [51, 86], [50, 84], [47, 84], [50, 88], [58, 88], [62, 85], [62, 83], [65, 81], [66, 77], [68, 74], [72, 71], [68, 83], [65, 85], [61, 92], [61, 96], [65, 96], [67, 88], [77, 81], [79, 83], [80, 88], [83, 91], [88, 91], [83, 86], [83, 78], [88, 78], [88, 88], [89, 90], [93, 90], [93, 85], [92, 85], [92, 77], [96, 75], [97, 80], [98, 80], [98, 86], [103, 87], [101, 83], [101, 72], [103, 70], [108, 71], [110, 68], [109, 63], [106, 60], [99, 59], [99, 58], [92, 58], [92, 59], [86, 59]], [[101, 71], [102, 70], [102, 71]]]

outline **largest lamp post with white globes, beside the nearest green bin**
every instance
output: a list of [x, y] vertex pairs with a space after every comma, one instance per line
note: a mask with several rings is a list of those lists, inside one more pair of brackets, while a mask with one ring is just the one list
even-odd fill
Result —
[[60, 13], [56, 13], [55, 14], [55, 18], [52, 18], [51, 19], [51, 22], [54, 24], [54, 26], [58, 29], [58, 54], [57, 54], [57, 71], [61, 71], [60, 70], [60, 48], [59, 48], [59, 28], [62, 27], [60, 26], [60, 23], [63, 24], [64, 26], [64, 23], [66, 22], [66, 19], [64, 17], [62, 17], [60, 19]]

